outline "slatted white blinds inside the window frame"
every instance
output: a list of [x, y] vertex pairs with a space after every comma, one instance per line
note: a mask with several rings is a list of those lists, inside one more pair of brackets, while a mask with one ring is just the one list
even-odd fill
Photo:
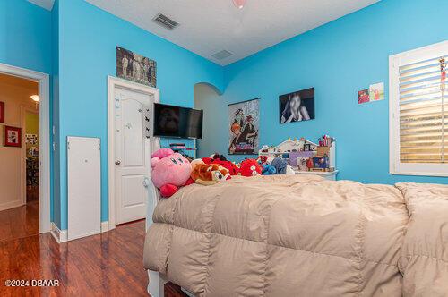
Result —
[[399, 67], [400, 162], [448, 163], [448, 55]]

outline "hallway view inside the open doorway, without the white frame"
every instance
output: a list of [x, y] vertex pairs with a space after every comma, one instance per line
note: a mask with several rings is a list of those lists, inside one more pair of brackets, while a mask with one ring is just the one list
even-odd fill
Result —
[[39, 83], [0, 73], [0, 241], [39, 234]]

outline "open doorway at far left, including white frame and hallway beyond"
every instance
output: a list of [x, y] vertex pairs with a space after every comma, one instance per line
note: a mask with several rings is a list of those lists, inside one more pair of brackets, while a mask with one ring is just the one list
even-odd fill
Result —
[[48, 74], [8, 64], [0, 79], [1, 241], [50, 231], [50, 89]]

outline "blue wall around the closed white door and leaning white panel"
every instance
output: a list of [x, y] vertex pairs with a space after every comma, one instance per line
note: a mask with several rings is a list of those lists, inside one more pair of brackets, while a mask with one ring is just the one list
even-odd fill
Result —
[[116, 46], [157, 61], [160, 100], [193, 106], [194, 84], [223, 88], [222, 68], [81, 0], [59, 2], [59, 154], [61, 222], [67, 227], [66, 137], [101, 140], [101, 219], [108, 220], [107, 77]]

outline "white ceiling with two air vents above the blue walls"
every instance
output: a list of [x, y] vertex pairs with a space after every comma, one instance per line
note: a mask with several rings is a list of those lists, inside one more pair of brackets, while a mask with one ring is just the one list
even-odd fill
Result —
[[[52, 0], [29, 0], [48, 2]], [[380, 0], [86, 0], [217, 64], [226, 65]], [[163, 13], [175, 30], [151, 21]], [[221, 61], [211, 55], [228, 50]]]

